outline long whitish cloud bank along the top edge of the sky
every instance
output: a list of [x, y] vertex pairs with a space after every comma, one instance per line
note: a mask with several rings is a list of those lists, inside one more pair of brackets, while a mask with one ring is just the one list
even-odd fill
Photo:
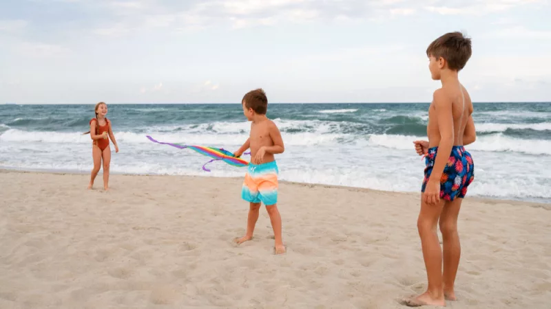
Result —
[[[35, 0], [37, 1], [37, 0]], [[71, 8], [101, 18], [85, 25], [100, 36], [121, 37], [156, 28], [173, 32], [208, 27], [274, 26], [289, 23], [373, 23], [416, 14], [487, 14], [545, 0], [79, 0]], [[114, 21], [110, 24], [110, 21]], [[2, 29], [0, 22], [0, 30]]]

